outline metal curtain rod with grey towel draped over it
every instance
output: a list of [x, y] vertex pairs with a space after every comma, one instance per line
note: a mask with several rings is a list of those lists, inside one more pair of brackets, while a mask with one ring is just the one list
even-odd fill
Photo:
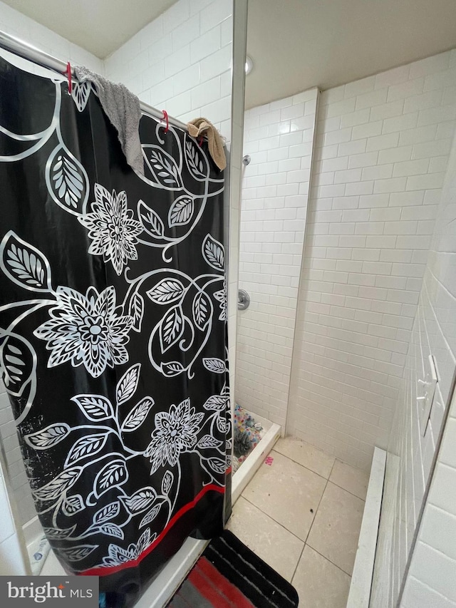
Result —
[[[5, 31], [0, 30], [0, 47], [4, 48], [6, 51], [11, 51], [15, 55], [19, 55], [24, 59], [28, 59], [29, 61], [33, 61], [33, 63], [38, 63], [39, 66], [43, 66], [43, 68], [50, 68], [53, 71], [64, 74], [66, 72], [66, 62], [61, 61], [52, 55], [49, 55], [45, 51], [41, 51], [39, 48], [28, 44], [28, 42], [24, 42], [15, 36], [11, 36], [11, 34], [6, 34]], [[75, 76], [73, 68], [71, 69], [71, 73]], [[153, 118], [158, 118], [159, 120], [163, 120], [162, 110], [157, 110], [157, 108], [152, 108], [152, 105], [148, 105], [147, 103], [140, 102], [141, 112], [152, 116]], [[187, 131], [187, 125], [182, 123], [177, 118], [172, 118], [172, 116], [168, 117], [168, 121], [170, 125], [174, 127], [178, 127]]]

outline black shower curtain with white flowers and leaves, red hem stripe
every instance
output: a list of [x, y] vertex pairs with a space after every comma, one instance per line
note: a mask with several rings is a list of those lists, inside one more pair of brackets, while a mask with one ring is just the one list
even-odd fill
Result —
[[143, 117], [126, 164], [88, 83], [0, 58], [0, 359], [36, 510], [130, 606], [230, 510], [224, 179]]

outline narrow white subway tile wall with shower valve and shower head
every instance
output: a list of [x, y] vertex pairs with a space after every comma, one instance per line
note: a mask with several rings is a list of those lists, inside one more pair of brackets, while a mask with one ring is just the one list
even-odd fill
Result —
[[247, 110], [236, 399], [285, 426], [318, 90]]

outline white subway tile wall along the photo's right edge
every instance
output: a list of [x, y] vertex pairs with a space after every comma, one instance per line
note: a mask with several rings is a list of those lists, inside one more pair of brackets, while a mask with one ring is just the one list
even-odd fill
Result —
[[[423, 500], [445, 407], [448, 407], [452, 399], [405, 582], [401, 608], [456, 606], [456, 396], [452, 395], [456, 369], [455, 319], [456, 138], [448, 163], [420, 298], [420, 326], [414, 332], [415, 355], [412, 359], [416, 362], [416, 371], [410, 370], [412, 381], [406, 391], [409, 400], [402, 408], [400, 424], [394, 426], [403, 474], [398, 485], [397, 501], [401, 508], [396, 514], [394, 530], [398, 552], [392, 556], [392, 561], [396, 564], [393, 599], [397, 598], [403, 555], [408, 554], [415, 532], [416, 517]], [[418, 422], [420, 407], [415, 400], [415, 382], [416, 376], [423, 378], [422, 361], [426, 360], [429, 352], [435, 357], [439, 381], [429, 426], [423, 437], [424, 428], [420, 428]], [[418, 387], [418, 391], [422, 394], [423, 389]]]

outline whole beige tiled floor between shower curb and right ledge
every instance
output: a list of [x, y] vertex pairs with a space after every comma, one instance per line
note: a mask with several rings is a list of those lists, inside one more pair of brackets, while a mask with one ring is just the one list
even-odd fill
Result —
[[229, 530], [294, 584], [299, 608], [346, 608], [368, 475], [295, 438], [269, 455]]

